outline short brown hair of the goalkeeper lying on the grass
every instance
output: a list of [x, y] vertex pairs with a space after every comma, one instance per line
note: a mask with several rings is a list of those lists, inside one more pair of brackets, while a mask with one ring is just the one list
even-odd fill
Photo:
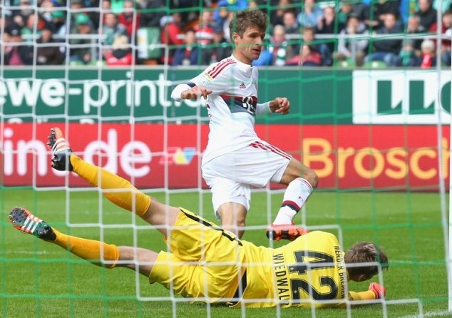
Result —
[[356, 266], [359, 263], [379, 263], [382, 269], [389, 267], [388, 257], [381, 247], [372, 242], [358, 242], [345, 252], [344, 262], [346, 265], [354, 264], [355, 266], [347, 266], [349, 276], [364, 274], [368, 277], [374, 276], [379, 272], [379, 266], [366, 265]]

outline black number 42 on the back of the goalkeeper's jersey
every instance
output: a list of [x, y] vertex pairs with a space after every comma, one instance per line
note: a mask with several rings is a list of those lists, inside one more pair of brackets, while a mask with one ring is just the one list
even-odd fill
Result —
[[[297, 263], [289, 265], [289, 272], [291, 273], [297, 272], [299, 275], [304, 275], [309, 270], [334, 268], [333, 257], [322, 252], [297, 251], [294, 252], [294, 255]], [[307, 294], [311, 295], [314, 300], [329, 300], [337, 297], [337, 284], [334, 282], [332, 277], [316, 275], [312, 275], [312, 277], [317, 277], [319, 279], [321, 287], [328, 286], [329, 292], [318, 292], [314, 289], [312, 284], [309, 284], [309, 282], [305, 279], [290, 279], [292, 285], [292, 299], [300, 299], [300, 288], [307, 292]]]

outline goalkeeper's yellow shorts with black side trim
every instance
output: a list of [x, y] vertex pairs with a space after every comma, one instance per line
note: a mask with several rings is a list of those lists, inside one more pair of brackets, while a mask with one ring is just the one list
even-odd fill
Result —
[[159, 282], [192, 302], [234, 296], [245, 272], [245, 249], [234, 234], [180, 207], [167, 242], [170, 252], [159, 253], [150, 284]]

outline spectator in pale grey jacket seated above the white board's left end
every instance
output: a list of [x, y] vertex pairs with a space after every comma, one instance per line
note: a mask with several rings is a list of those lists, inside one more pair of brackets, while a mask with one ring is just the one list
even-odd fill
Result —
[[[364, 22], [359, 21], [357, 16], [351, 14], [347, 20], [346, 27], [339, 33], [337, 44], [337, 61], [351, 61], [356, 66], [364, 64], [364, 57], [366, 56], [367, 46], [369, 40], [366, 36], [369, 31]], [[346, 36], [362, 36], [361, 39], [346, 39]]]

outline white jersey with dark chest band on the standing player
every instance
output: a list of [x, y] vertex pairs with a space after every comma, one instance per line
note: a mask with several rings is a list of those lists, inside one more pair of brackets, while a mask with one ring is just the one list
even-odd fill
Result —
[[210, 133], [202, 164], [260, 140], [254, 128], [256, 110], [269, 108], [268, 104], [257, 105], [257, 76], [255, 66], [230, 56], [213, 63], [189, 83], [212, 90], [207, 96]]

